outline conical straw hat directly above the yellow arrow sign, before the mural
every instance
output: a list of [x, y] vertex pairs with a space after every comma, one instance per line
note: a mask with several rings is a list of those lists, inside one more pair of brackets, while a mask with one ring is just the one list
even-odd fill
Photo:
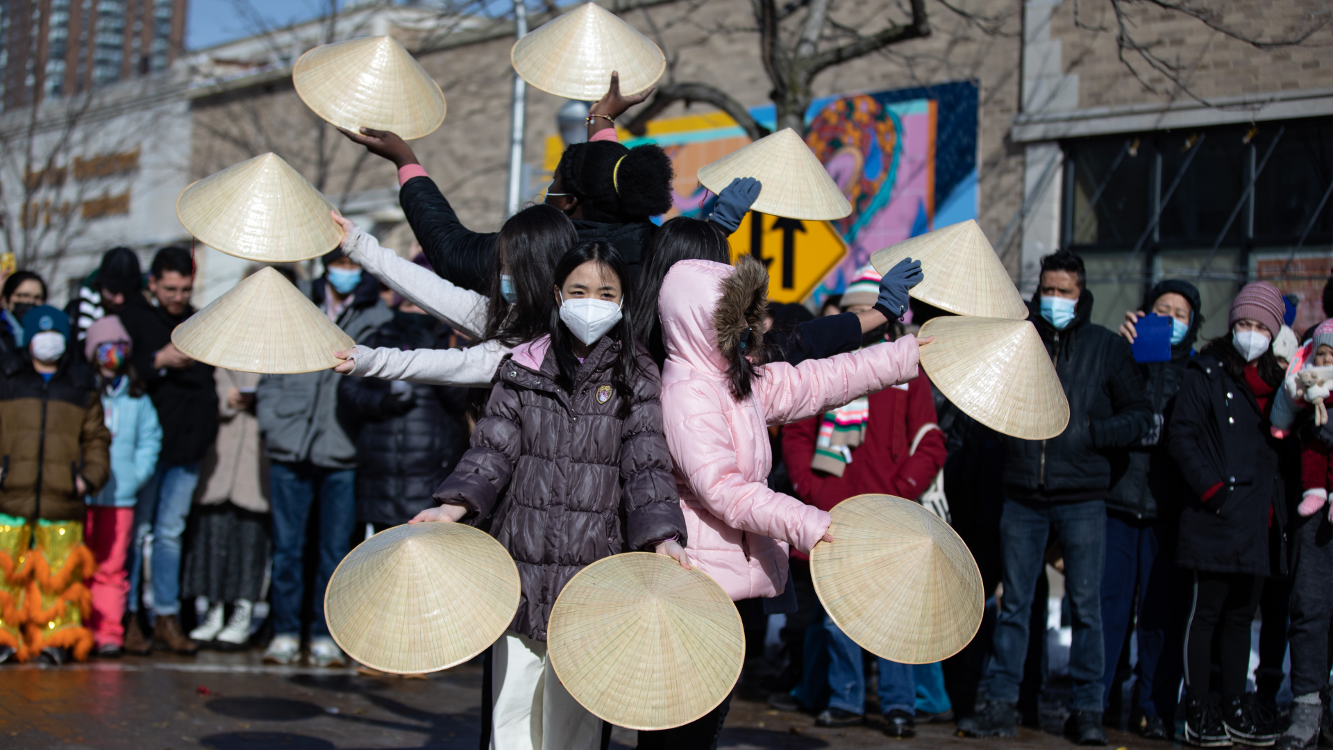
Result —
[[852, 204], [792, 128], [782, 128], [700, 167], [698, 181], [713, 192], [736, 177], [756, 177], [762, 188], [753, 208], [772, 216], [830, 220], [852, 212]]

